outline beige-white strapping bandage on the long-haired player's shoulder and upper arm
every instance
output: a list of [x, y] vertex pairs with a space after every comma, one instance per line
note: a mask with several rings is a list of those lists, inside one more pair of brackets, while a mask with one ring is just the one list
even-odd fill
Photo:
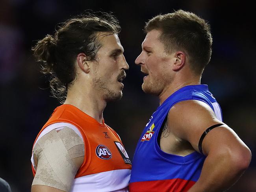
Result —
[[72, 159], [84, 156], [82, 138], [72, 129], [56, 129], [41, 137], [33, 148], [37, 159], [32, 185], [46, 185], [68, 192], [79, 167]]

